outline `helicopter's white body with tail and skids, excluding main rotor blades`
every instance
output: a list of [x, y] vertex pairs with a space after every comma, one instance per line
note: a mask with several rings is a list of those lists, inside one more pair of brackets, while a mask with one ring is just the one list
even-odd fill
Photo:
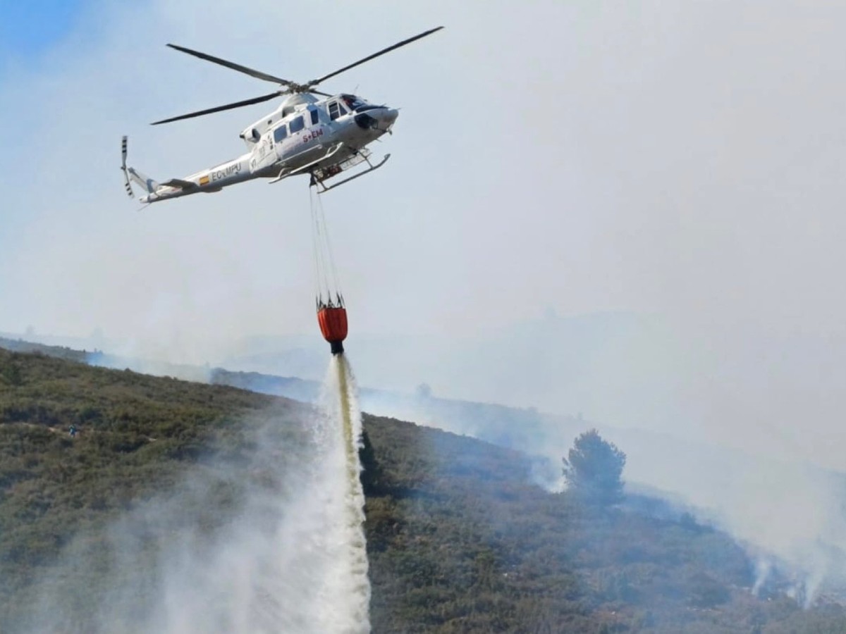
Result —
[[[124, 138], [124, 172], [128, 181], [146, 190], [140, 199], [143, 203], [219, 192], [255, 178], [272, 178], [275, 183], [300, 173], [310, 174], [312, 183], [326, 191], [332, 189], [324, 184], [327, 178], [361, 161], [370, 163], [370, 151], [365, 146], [390, 132], [397, 117], [398, 111], [393, 108], [375, 106], [352, 95], [318, 100], [311, 94], [296, 94], [244, 129], [240, 137], [248, 151], [237, 158], [184, 178], [157, 183], [126, 166]], [[386, 160], [387, 156], [378, 165], [371, 164], [367, 171], [381, 167]], [[127, 189], [131, 195], [129, 184]]]

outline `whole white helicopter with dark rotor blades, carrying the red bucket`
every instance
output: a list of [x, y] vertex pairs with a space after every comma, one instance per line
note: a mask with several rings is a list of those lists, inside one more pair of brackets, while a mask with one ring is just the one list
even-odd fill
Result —
[[[349, 183], [354, 178], [375, 171], [382, 167], [391, 155], [387, 154], [382, 161], [375, 163], [371, 161], [372, 152], [366, 145], [379, 139], [383, 134], [393, 134], [393, 123], [397, 120], [398, 110], [384, 104], [376, 105], [360, 96], [347, 93], [330, 95], [316, 90], [316, 86], [350, 68], [420, 40], [442, 28], [438, 26], [435, 29], [426, 30], [305, 84], [281, 79], [184, 46], [168, 44], [179, 52], [232, 68], [239, 73], [275, 83], [280, 87], [267, 95], [189, 112], [179, 117], [156, 121], [151, 125], [251, 106], [281, 96], [285, 99], [276, 110], [244, 128], [239, 134], [247, 146], [245, 154], [184, 178], [171, 178], [164, 183], [158, 183], [134, 167], [127, 166], [127, 137], [124, 136], [121, 142], [121, 169], [124, 171], [127, 194], [133, 198], [132, 183], [140, 185], [145, 192], [140, 201], [150, 204], [190, 194], [211, 194], [229, 185], [255, 178], [270, 178], [271, 183], [278, 183], [283, 178], [299, 174], [310, 175], [310, 186], [316, 186], [318, 193], [323, 194], [344, 183]], [[320, 99], [318, 96], [323, 98]], [[340, 182], [327, 184], [330, 178], [362, 163], [368, 166], [365, 170], [344, 178]]]

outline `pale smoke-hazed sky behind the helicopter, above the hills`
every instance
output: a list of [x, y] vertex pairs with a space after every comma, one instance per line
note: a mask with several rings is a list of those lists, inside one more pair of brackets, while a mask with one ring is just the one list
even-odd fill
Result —
[[457, 366], [420, 379], [842, 466], [846, 6], [89, 1], [33, 21], [7, 5], [0, 331], [99, 327], [212, 362], [244, 336], [316, 336], [305, 178], [138, 212], [120, 137], [165, 180], [238, 155], [269, 112], [150, 127], [272, 90], [168, 42], [303, 81], [444, 25], [321, 86], [402, 108], [386, 167], [323, 199], [351, 338], [507, 348], [551, 310], [640, 314], [666, 336], [613, 377], [662, 385], [636, 402], [596, 372], [588, 405], [503, 389], [569, 353], [552, 347], [497, 391], [462, 391]]

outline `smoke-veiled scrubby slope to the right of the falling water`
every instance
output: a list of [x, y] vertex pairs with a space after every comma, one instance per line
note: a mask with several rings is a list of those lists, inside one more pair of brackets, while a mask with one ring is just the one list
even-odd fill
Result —
[[[371, 418], [378, 631], [846, 631], [843, 609], [755, 598], [727, 535], [527, 484], [523, 456]], [[816, 628], [816, 629], [815, 629]]]

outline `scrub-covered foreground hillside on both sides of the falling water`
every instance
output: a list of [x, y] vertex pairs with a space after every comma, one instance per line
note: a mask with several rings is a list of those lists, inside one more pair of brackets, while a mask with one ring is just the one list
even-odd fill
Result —
[[[168, 544], [213, 542], [249, 489], [295, 494], [311, 415], [0, 350], [0, 629], [33, 631], [58, 605], [55, 631], [106, 631], [97, 598], [131, 587], [106, 607], [126, 619], [111, 631], [133, 631]], [[803, 611], [777, 584], [755, 598], [743, 549], [690, 518], [588, 511], [531, 484], [519, 452], [467, 437], [370, 416], [365, 433], [376, 632], [846, 630], [843, 609]]]

